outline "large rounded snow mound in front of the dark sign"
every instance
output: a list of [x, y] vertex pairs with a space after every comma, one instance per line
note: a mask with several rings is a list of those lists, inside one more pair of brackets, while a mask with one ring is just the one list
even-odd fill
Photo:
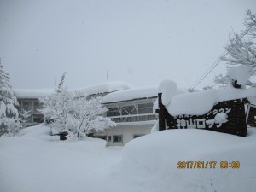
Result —
[[[256, 189], [256, 131], [248, 137], [204, 130], [167, 130], [127, 143], [117, 177], [137, 191], [251, 191]], [[178, 161], [216, 161], [215, 169], [178, 169]], [[239, 161], [239, 169], [221, 169]], [[128, 191], [128, 190], [127, 190]]]

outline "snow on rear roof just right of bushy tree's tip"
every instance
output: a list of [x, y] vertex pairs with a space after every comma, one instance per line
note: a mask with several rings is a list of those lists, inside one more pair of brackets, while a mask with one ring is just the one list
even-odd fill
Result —
[[95, 84], [87, 87], [82, 87], [79, 89], [74, 89], [70, 91], [79, 91], [86, 95], [93, 95], [97, 93], [110, 93], [116, 90], [126, 90], [130, 89], [132, 86], [123, 81], [112, 81], [112, 82], [104, 82], [102, 84]]

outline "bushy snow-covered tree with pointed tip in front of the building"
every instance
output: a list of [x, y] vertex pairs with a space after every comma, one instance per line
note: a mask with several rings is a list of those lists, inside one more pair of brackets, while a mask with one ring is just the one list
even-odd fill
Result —
[[41, 113], [49, 125], [57, 132], [67, 132], [68, 137], [85, 137], [90, 131], [102, 131], [114, 122], [102, 117], [108, 109], [101, 104], [101, 98], [86, 99], [78, 92], [70, 92], [64, 86], [65, 73], [51, 96], [40, 98], [43, 103]]

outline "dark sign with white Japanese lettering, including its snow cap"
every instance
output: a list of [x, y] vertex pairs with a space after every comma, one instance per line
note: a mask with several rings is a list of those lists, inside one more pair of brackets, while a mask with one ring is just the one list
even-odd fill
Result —
[[[166, 91], [167, 87], [172, 87], [172, 91]], [[230, 89], [235, 88], [175, 95], [176, 89], [173, 82], [160, 84], [158, 109], [156, 110], [156, 113], [159, 113], [160, 131], [195, 128], [237, 136], [247, 135], [244, 107], [245, 103], [248, 102], [247, 96], [241, 97], [240, 94], [237, 95], [237, 98], [234, 97], [230, 94], [233, 91]], [[246, 91], [245, 95], [250, 95], [252, 90], [241, 91]], [[170, 94], [171, 92], [172, 94]]]

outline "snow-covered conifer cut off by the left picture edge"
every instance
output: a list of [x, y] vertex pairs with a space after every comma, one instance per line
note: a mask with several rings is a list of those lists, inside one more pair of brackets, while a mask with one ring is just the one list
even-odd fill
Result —
[[5, 73], [0, 60], [0, 136], [15, 136], [20, 131], [19, 103], [9, 84], [9, 73]]

